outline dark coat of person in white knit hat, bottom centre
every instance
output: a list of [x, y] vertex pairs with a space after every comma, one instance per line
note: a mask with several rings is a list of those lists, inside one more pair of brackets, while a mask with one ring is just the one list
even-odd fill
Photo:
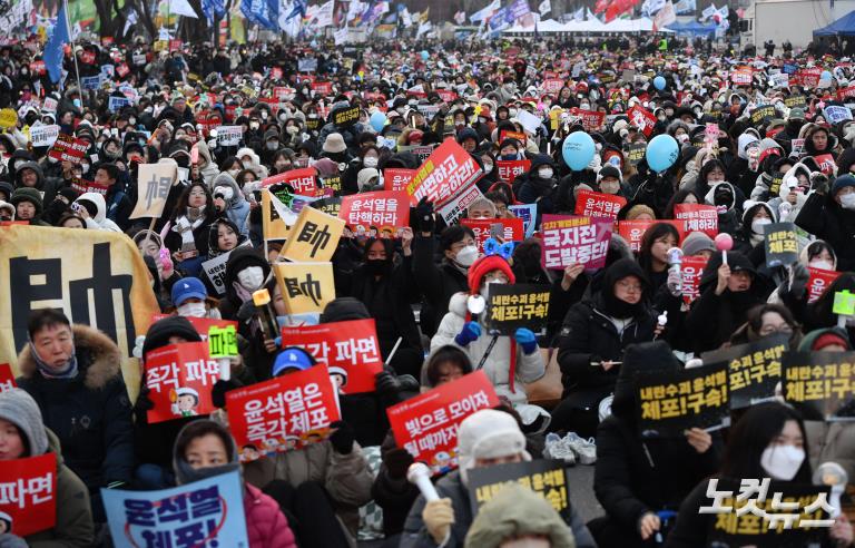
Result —
[[[442, 545], [442, 548], [463, 548], [466, 532], [474, 517], [472, 516], [472, 507], [469, 500], [469, 489], [463, 485], [460, 471], [451, 472], [438, 481], [436, 492], [441, 499], [450, 498], [451, 506], [454, 509], [454, 523], [451, 526], [451, 535], [448, 542]], [[424, 496], [420, 495], [413, 508], [410, 509], [410, 515], [406, 517], [404, 532], [399, 545], [401, 548], [435, 548], [440, 546], [428, 532], [428, 528], [422, 520], [424, 505]], [[597, 546], [581, 517], [572, 507], [568, 526], [572, 529], [578, 548], [593, 548]]]

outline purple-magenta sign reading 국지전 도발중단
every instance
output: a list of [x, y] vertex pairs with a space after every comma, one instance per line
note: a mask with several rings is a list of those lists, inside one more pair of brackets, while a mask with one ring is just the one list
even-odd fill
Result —
[[611, 228], [610, 219], [543, 215], [541, 264], [550, 270], [563, 270], [571, 264], [601, 268], [606, 265]]

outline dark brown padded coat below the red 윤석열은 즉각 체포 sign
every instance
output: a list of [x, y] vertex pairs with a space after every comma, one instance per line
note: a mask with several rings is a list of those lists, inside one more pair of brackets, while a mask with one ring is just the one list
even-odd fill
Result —
[[336, 513], [353, 535], [360, 523], [358, 508], [371, 500], [374, 481], [358, 443], [354, 442], [353, 450], [342, 454], [328, 441], [247, 462], [244, 464], [244, 479], [259, 489], [275, 479], [284, 480], [292, 487], [306, 481], [321, 483], [332, 498]]

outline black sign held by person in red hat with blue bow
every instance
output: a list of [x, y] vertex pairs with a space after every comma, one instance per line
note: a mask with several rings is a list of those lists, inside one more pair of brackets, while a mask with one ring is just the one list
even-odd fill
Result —
[[549, 286], [490, 284], [484, 325], [491, 334], [512, 335], [519, 327], [539, 332], [549, 314]]

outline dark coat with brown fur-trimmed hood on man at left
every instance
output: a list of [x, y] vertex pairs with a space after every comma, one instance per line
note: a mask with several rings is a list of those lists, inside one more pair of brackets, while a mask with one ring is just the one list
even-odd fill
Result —
[[87, 325], [75, 324], [72, 331], [77, 376], [43, 378], [27, 345], [18, 355], [18, 385], [39, 404], [45, 425], [57, 434], [68, 467], [90, 492], [97, 492], [114, 481], [131, 480], [131, 408], [116, 343]]

